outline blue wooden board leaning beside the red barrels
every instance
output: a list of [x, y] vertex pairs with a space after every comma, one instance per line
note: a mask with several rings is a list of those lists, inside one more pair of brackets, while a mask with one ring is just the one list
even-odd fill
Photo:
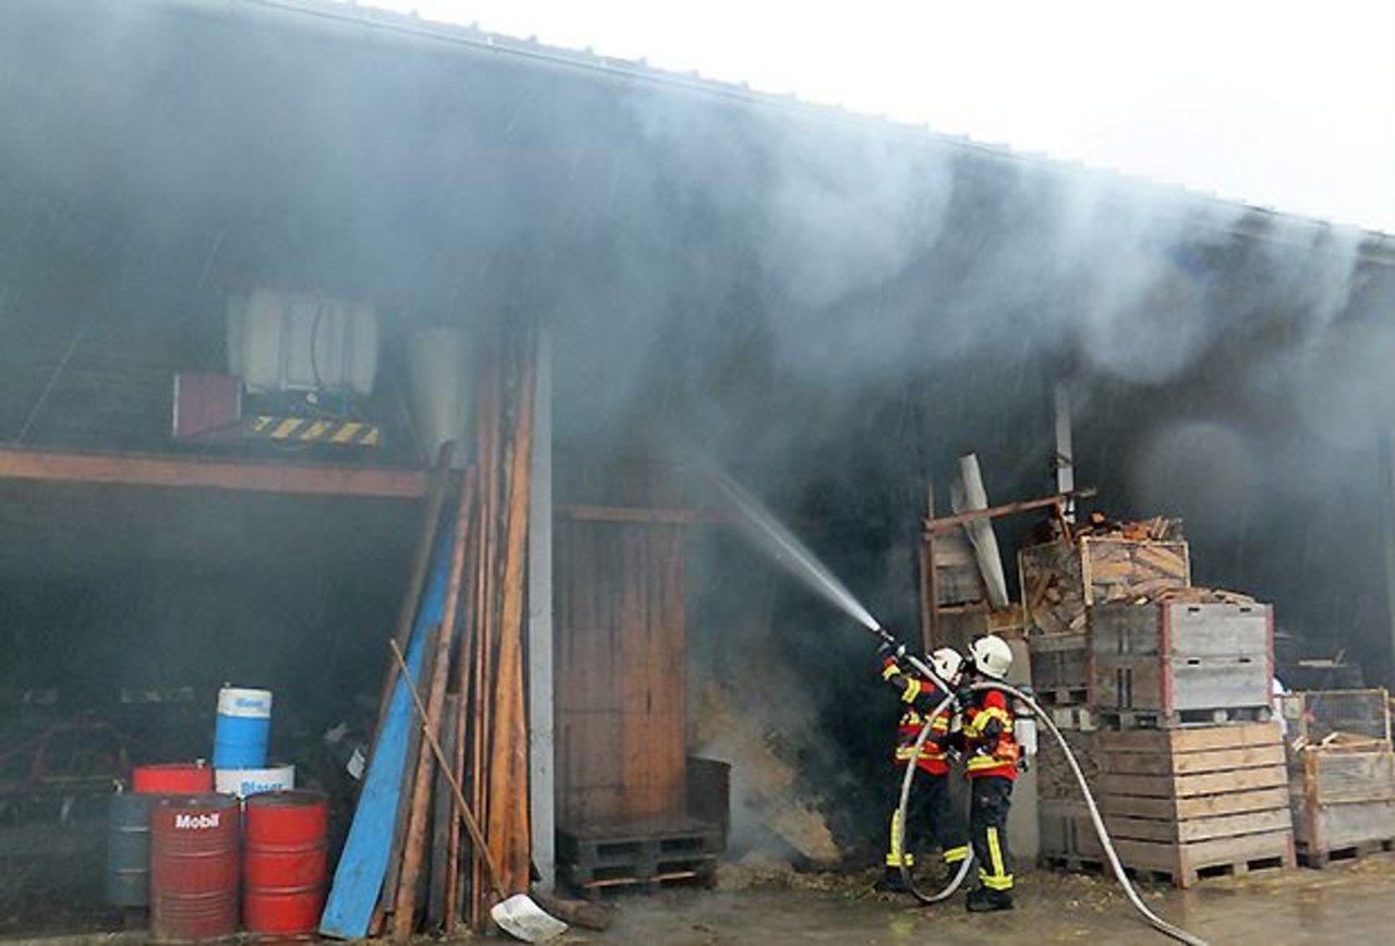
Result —
[[[446, 519], [452, 520], [453, 516]], [[431, 576], [417, 608], [417, 620], [407, 642], [407, 668], [420, 685], [427, 631], [441, 622], [451, 571], [452, 529], [441, 529], [442, 539], [431, 562]], [[392, 654], [388, 654], [392, 659]], [[319, 918], [319, 932], [335, 939], [360, 939], [368, 935], [372, 908], [378, 903], [388, 855], [398, 820], [398, 798], [402, 794], [402, 773], [407, 760], [407, 737], [416, 726], [412, 695], [399, 677], [388, 702], [388, 714], [372, 749], [372, 762], [364, 776], [359, 808], [354, 811], [349, 837], [345, 840], [335, 882], [329, 887], [325, 913]]]

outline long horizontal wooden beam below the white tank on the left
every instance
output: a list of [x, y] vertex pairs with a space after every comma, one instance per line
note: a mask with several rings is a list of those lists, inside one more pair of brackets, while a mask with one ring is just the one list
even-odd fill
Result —
[[0, 448], [0, 480], [420, 500], [428, 479], [424, 470]]

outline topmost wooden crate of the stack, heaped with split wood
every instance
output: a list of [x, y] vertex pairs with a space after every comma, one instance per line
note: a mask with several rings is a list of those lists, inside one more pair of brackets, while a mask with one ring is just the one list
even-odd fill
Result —
[[1023, 548], [1017, 568], [1028, 635], [1080, 632], [1091, 606], [1136, 601], [1191, 585], [1184, 541], [1057, 540]]

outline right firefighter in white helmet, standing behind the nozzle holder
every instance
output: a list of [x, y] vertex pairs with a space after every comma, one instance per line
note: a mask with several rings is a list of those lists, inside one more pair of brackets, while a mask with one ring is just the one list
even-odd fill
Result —
[[[1002, 638], [974, 642], [970, 682], [1003, 681], [1013, 652]], [[1021, 748], [1013, 737], [1013, 710], [1000, 689], [958, 692], [964, 719], [965, 776], [970, 780], [970, 836], [978, 858], [978, 889], [968, 894], [971, 913], [1013, 908], [1013, 861], [1007, 851], [1007, 812]]]

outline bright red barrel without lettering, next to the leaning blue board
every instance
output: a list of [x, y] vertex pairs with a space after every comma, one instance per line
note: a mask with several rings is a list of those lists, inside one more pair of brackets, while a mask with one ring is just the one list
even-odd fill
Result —
[[308, 933], [325, 908], [329, 806], [318, 791], [248, 795], [243, 924], [254, 933]]

